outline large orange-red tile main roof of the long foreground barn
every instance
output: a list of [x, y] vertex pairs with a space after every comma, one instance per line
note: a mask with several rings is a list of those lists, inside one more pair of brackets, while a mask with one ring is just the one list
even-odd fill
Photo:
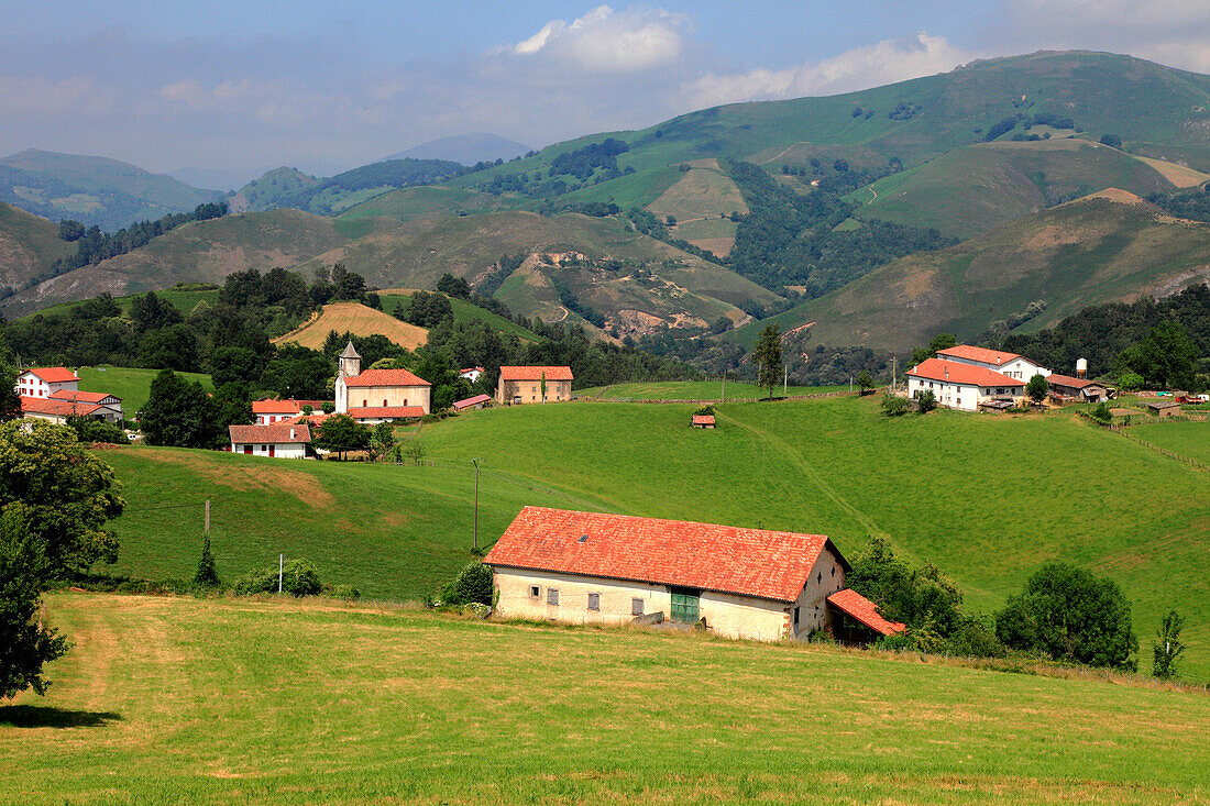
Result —
[[794, 601], [823, 535], [525, 507], [484, 562]]

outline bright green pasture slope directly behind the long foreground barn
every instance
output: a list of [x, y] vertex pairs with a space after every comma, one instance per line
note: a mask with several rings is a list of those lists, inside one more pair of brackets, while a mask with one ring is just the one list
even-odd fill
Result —
[[202, 500], [214, 497], [226, 577], [284, 551], [334, 583], [414, 597], [467, 559], [467, 462], [479, 456], [483, 545], [524, 503], [820, 532], [848, 555], [886, 534], [950, 574], [970, 612], [999, 608], [1061, 559], [1123, 587], [1145, 666], [1160, 614], [1176, 608], [1188, 620], [1185, 673], [1210, 679], [1210, 473], [1067, 413], [887, 420], [876, 397], [843, 396], [726, 403], [720, 427], [699, 431], [688, 427], [695, 408], [474, 411], [421, 428], [438, 467], [110, 451], [129, 501], [115, 524], [119, 570], [189, 576], [198, 551], [189, 518], [200, 526]]

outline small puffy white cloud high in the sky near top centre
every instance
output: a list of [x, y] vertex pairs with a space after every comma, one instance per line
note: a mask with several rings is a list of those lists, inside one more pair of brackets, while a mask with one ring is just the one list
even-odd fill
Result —
[[552, 19], [508, 52], [544, 56], [599, 73], [647, 70], [680, 58], [684, 22], [662, 8], [615, 12], [598, 6], [570, 24]]

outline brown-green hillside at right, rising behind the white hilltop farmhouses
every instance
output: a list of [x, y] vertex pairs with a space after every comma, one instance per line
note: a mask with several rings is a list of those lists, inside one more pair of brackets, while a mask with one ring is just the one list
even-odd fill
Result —
[[[939, 252], [881, 266], [773, 317], [813, 344], [910, 350], [938, 333], [973, 339], [1033, 301], [1036, 330], [1088, 305], [1164, 295], [1210, 278], [1210, 225], [1174, 219], [1130, 194], [1097, 194]], [[734, 333], [750, 344], [764, 323]]]

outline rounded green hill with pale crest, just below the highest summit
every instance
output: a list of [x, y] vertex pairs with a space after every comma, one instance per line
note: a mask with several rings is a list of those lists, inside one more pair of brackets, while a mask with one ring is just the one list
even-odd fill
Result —
[[1169, 165], [1077, 138], [987, 143], [955, 149], [854, 196], [870, 200], [858, 213], [862, 218], [933, 226], [969, 238], [1105, 188], [1136, 196], [1174, 189], [1157, 163]]

